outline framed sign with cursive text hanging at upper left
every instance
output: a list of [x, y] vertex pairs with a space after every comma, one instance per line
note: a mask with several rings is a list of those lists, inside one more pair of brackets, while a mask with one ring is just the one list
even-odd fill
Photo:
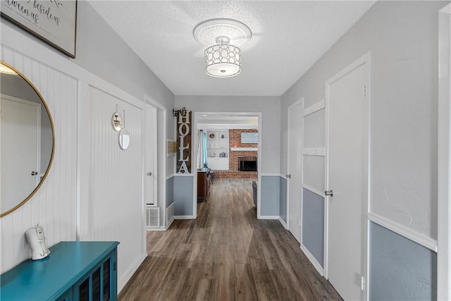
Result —
[[77, 1], [1, 0], [1, 17], [75, 59]]

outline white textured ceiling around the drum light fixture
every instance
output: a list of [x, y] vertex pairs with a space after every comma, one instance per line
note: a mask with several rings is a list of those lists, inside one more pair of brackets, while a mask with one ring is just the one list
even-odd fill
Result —
[[[375, 1], [91, 1], [175, 95], [280, 96]], [[242, 73], [211, 78], [197, 24], [232, 18], [252, 30]], [[232, 43], [231, 43], [232, 44]]]

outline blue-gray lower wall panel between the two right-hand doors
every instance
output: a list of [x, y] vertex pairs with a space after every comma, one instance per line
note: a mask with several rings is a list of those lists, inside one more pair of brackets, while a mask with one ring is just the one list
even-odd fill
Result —
[[324, 198], [302, 188], [302, 244], [324, 266]]

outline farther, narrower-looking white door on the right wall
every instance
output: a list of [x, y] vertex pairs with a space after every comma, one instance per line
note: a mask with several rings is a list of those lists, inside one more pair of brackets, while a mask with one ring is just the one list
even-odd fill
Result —
[[288, 230], [301, 242], [302, 102], [288, 108]]

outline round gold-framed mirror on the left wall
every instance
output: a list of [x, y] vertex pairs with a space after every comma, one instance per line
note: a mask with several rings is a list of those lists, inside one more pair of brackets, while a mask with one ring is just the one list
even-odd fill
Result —
[[54, 124], [36, 87], [0, 61], [0, 217], [41, 187], [54, 158]]

